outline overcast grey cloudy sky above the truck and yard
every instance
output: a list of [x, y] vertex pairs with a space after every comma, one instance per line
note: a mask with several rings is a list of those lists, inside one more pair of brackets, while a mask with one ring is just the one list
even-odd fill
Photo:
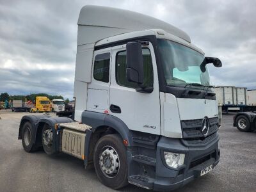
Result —
[[72, 99], [77, 19], [86, 4], [132, 10], [180, 28], [205, 56], [214, 85], [256, 89], [256, 1], [0, 0], [0, 93]]

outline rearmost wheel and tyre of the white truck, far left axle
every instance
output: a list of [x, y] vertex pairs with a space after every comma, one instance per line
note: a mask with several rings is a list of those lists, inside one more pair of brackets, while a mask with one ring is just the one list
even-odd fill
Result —
[[26, 152], [34, 152], [37, 150], [35, 143], [33, 143], [32, 125], [26, 122], [22, 127], [22, 146]]

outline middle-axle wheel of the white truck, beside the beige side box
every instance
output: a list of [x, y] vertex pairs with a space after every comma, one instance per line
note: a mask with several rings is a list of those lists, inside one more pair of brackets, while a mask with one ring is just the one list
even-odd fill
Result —
[[45, 124], [42, 129], [42, 145], [45, 153], [51, 155], [56, 152], [53, 145], [52, 129], [48, 124]]

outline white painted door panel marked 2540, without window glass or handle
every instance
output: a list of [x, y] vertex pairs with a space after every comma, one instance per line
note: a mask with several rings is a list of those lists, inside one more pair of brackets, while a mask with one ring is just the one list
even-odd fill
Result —
[[[125, 50], [126, 45], [113, 47], [111, 62], [111, 84], [109, 92], [109, 105], [114, 104], [121, 108], [122, 113], [112, 113], [122, 120], [131, 130], [161, 134], [159, 86], [155, 54], [152, 44], [148, 47], [151, 52], [154, 71], [154, 91], [152, 93], [139, 93], [134, 88], [127, 88], [116, 83], [116, 52]], [[145, 127], [151, 126], [154, 128]]]

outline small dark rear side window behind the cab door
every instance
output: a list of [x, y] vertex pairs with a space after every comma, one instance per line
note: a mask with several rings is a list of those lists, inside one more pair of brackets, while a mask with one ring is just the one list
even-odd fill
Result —
[[97, 54], [94, 60], [93, 77], [97, 81], [109, 82], [110, 53]]

